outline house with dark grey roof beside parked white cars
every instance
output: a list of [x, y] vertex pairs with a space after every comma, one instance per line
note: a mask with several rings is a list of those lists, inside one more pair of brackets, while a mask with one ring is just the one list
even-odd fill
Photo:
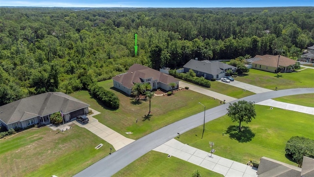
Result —
[[184, 73], [188, 72], [188, 70], [192, 69], [196, 76], [203, 76], [205, 79], [216, 79], [219, 80], [226, 75], [226, 71], [231, 69], [234, 72], [236, 71], [236, 67], [220, 62], [220, 61], [209, 61], [209, 60], [195, 60], [190, 59], [184, 66]]

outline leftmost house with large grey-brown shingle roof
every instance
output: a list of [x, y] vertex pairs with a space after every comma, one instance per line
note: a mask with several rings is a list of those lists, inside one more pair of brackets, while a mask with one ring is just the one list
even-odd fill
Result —
[[[0, 123], [7, 129], [50, 124], [53, 113], [64, 114], [70, 121], [88, 113], [89, 105], [62, 92], [47, 92], [0, 106]], [[61, 113], [60, 113], [61, 114]]]

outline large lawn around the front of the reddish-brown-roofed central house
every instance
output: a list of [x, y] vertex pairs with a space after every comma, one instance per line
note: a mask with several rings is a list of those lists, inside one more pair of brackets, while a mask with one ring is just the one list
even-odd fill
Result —
[[[110, 89], [112, 80], [99, 82], [99, 85], [114, 92], [120, 99], [120, 108], [109, 110], [93, 99], [87, 91], [78, 91], [71, 96], [90, 104], [92, 109], [102, 114], [95, 116], [101, 123], [114, 131], [131, 139], [139, 139], [163, 126], [202, 112], [203, 103], [206, 108], [220, 105], [220, 101], [191, 90], [179, 90], [171, 96], [154, 96], [151, 100], [151, 114], [149, 111], [149, 100], [137, 101], [117, 90]], [[136, 119], [138, 122], [136, 123]], [[125, 132], [133, 132], [126, 135]]]

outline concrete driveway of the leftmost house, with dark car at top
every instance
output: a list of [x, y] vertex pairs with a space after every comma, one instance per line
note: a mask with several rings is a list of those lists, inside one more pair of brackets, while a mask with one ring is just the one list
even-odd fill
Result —
[[119, 150], [120, 148], [123, 148], [135, 141], [130, 138], [122, 136], [118, 132], [115, 132], [109, 127], [105, 126], [104, 124], [98, 122], [98, 120], [96, 118], [93, 118], [93, 116], [100, 114], [100, 112], [95, 111], [93, 109], [92, 111], [94, 114], [87, 116], [89, 118], [88, 123], [82, 124], [81, 122], [78, 121], [73, 122], [80, 127], [86, 128], [87, 130], [91, 131], [101, 139], [105, 140], [106, 142], [111, 144], [115, 150]]

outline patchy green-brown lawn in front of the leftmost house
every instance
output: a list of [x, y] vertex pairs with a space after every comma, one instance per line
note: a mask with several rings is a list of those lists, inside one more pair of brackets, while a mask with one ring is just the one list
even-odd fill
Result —
[[[104, 146], [96, 150], [100, 143]], [[65, 132], [28, 129], [0, 140], [0, 176], [70, 177], [108, 155], [110, 147], [75, 124]]]

